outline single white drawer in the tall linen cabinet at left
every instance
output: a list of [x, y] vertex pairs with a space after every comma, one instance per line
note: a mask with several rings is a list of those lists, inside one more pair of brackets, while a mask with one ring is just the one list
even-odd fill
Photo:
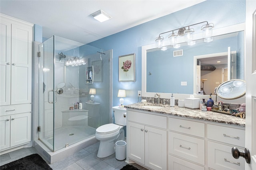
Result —
[[31, 104], [0, 106], [0, 116], [31, 112]]

